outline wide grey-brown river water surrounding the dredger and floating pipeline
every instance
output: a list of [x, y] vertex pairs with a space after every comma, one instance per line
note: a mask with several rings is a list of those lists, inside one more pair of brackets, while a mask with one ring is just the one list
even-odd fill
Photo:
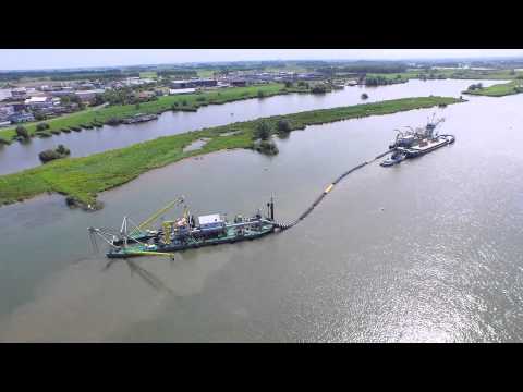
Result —
[[[522, 341], [522, 106], [471, 97], [308, 126], [278, 139], [276, 157], [217, 152], [148, 172], [90, 213], [58, 195], [2, 207], [0, 341]], [[435, 111], [454, 145], [365, 167], [292, 230], [173, 261], [90, 250], [87, 226], [141, 221], [182, 194], [194, 215], [230, 216], [273, 194], [277, 218], [292, 220], [393, 128]]]

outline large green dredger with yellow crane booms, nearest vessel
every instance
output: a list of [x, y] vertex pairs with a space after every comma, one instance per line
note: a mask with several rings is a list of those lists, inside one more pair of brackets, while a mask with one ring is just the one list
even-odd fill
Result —
[[[124, 217], [119, 233], [97, 228], [88, 228], [88, 231], [93, 241], [96, 234], [109, 244], [110, 249], [106, 254], [108, 258], [127, 258], [151, 255], [172, 257], [173, 252], [259, 238], [272, 233], [277, 228], [275, 204], [270, 199], [267, 203], [266, 217], [258, 211], [251, 218], [236, 216], [233, 222], [229, 222], [220, 213], [195, 219], [185, 207], [182, 217], [163, 221], [161, 228], [156, 231], [144, 230], [159, 215], [178, 205], [180, 200], [183, 199], [171, 201], [166, 208], [160, 209], [144, 222], [146, 224], [134, 225], [129, 218]], [[131, 231], [129, 231], [130, 225], [133, 226]], [[95, 241], [94, 243], [96, 244]]]

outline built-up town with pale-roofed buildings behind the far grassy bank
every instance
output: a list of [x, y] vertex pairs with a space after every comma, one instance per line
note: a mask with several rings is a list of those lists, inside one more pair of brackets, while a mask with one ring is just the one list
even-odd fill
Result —
[[[161, 96], [194, 94], [227, 87], [271, 82], [317, 81], [321, 73], [235, 71], [212, 77], [173, 78], [146, 72], [145, 76], [88, 81], [29, 81], [4, 89], [0, 102], [0, 126], [41, 121], [83, 110], [88, 106], [139, 103]], [[8, 87], [12, 84], [8, 83]], [[114, 93], [119, 93], [119, 99]], [[0, 97], [2, 98], [2, 97]]]

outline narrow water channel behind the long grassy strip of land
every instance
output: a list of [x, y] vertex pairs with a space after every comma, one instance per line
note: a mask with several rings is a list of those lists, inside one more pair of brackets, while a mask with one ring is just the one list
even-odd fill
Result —
[[362, 103], [366, 93], [367, 102], [429, 95], [460, 96], [473, 83], [489, 86], [499, 81], [410, 81], [382, 87], [345, 87], [326, 95], [291, 94], [263, 99], [250, 99], [226, 105], [200, 108], [197, 112], [166, 112], [157, 121], [101, 128], [84, 130], [81, 133], [62, 133], [48, 138], [32, 138], [28, 143], [0, 145], [0, 174], [20, 171], [41, 164], [38, 154], [54, 149], [59, 144], [71, 150], [72, 157], [82, 157], [108, 149], [130, 146], [160, 136], [173, 135], [209, 126], [224, 125], [260, 117], [295, 113], [299, 111], [336, 108]]

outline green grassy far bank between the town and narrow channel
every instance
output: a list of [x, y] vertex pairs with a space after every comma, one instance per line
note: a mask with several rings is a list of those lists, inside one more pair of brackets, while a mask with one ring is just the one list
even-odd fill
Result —
[[[135, 105], [110, 106], [101, 109], [87, 109], [76, 113], [66, 114], [56, 119], [46, 120], [49, 132], [60, 133], [63, 128], [82, 127], [93, 123], [104, 123], [109, 119], [123, 119], [136, 113], [160, 113], [168, 110], [196, 111], [202, 106], [220, 105], [242, 99], [258, 97], [259, 91], [264, 97], [289, 93], [309, 93], [307, 88], [285, 88], [283, 84], [272, 83], [259, 86], [221, 88], [200, 94], [187, 94], [159, 97], [156, 101]], [[38, 122], [22, 124], [27, 128], [31, 136], [35, 136]], [[0, 138], [11, 142], [15, 136], [15, 127], [0, 131]]]

